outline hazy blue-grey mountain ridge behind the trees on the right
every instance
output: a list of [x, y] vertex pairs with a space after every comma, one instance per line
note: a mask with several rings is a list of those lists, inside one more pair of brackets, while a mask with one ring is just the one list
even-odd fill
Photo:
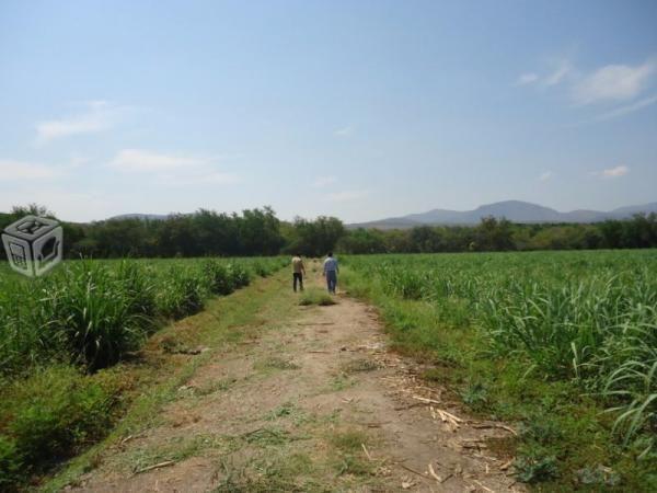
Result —
[[560, 213], [550, 207], [521, 200], [505, 200], [486, 204], [474, 210], [433, 209], [427, 213], [348, 225], [348, 228], [407, 229], [422, 225], [476, 225], [482, 217], [507, 218], [511, 222], [598, 222], [606, 219], [626, 219], [638, 213], [657, 213], [657, 202], [621, 207], [610, 211], [572, 210]]

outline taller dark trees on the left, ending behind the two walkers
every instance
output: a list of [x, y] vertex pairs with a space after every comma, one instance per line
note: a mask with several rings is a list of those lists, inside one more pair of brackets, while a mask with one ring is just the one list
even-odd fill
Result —
[[[26, 215], [58, 219], [46, 207], [0, 214], [0, 229]], [[339, 219], [280, 221], [270, 207], [222, 214], [199, 209], [165, 219], [115, 218], [90, 223], [60, 221], [67, 259], [254, 256], [301, 253], [319, 256], [345, 234]], [[2, 252], [0, 259], [4, 259]]]

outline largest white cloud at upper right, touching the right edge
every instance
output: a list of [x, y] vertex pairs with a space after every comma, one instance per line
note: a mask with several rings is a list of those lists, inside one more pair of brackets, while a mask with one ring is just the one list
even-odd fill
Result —
[[646, 89], [656, 68], [654, 59], [635, 67], [608, 65], [599, 68], [575, 84], [573, 100], [578, 104], [590, 104], [634, 99]]

